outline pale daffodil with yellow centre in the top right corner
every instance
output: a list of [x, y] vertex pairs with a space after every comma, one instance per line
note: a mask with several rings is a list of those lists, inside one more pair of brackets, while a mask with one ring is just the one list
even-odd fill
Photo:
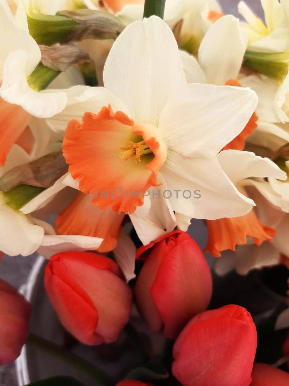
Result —
[[247, 23], [242, 23], [248, 35], [248, 49], [257, 52], [284, 52], [289, 49], [288, 0], [261, 0], [265, 24], [250, 7], [241, 1], [238, 5]]

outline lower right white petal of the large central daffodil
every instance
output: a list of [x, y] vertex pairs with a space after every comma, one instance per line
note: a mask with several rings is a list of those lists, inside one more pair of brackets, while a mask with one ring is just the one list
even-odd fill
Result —
[[[173, 210], [191, 218], [238, 217], [254, 205], [235, 188], [217, 158], [193, 159], [170, 151], [161, 174], [171, 192], [179, 191], [178, 198], [170, 198]], [[201, 198], [193, 198], [195, 191]]]

